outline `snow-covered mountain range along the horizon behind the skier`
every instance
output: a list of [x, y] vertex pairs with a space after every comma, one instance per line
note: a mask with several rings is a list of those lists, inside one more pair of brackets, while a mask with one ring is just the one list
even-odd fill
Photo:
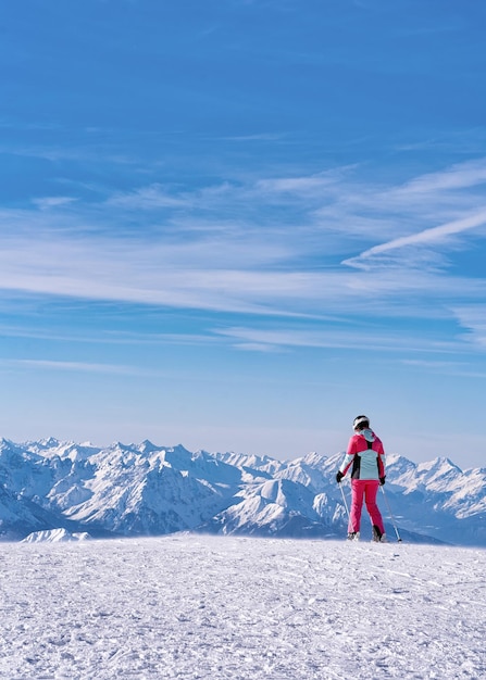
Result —
[[[341, 456], [310, 453], [283, 462], [149, 441], [102, 449], [52, 438], [2, 439], [0, 538], [23, 540], [52, 529], [64, 529], [64, 537], [199, 531], [344, 538], [347, 513], [335, 481]], [[415, 464], [391, 454], [385, 489], [378, 502], [390, 538], [391, 509], [403, 540], [486, 545], [486, 469], [463, 471], [448, 458]], [[366, 529], [364, 516], [364, 536]]]

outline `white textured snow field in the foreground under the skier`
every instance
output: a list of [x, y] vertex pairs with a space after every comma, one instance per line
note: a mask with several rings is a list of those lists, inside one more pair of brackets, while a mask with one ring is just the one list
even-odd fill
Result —
[[0, 544], [0, 678], [486, 678], [484, 550], [172, 534]]

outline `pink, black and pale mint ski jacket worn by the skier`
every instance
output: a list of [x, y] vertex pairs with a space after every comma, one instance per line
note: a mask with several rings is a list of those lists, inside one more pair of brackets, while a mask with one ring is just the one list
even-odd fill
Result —
[[349, 440], [339, 471], [346, 475], [351, 465], [352, 479], [385, 477], [385, 450], [382, 440], [372, 430], [362, 430]]

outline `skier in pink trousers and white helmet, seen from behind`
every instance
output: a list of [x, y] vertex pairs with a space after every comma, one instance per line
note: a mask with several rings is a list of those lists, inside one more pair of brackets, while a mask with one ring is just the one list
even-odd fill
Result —
[[351, 469], [351, 512], [348, 539], [359, 540], [363, 499], [373, 526], [373, 540], [386, 542], [382, 514], [376, 505], [378, 487], [385, 483], [385, 451], [378, 437], [370, 429], [367, 416], [357, 416], [352, 424], [354, 435], [349, 440], [348, 451], [336, 475], [340, 483]]

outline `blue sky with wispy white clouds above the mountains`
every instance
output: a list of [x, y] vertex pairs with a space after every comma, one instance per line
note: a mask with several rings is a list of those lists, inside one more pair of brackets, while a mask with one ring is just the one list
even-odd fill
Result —
[[4, 3], [0, 436], [484, 465], [485, 25]]

